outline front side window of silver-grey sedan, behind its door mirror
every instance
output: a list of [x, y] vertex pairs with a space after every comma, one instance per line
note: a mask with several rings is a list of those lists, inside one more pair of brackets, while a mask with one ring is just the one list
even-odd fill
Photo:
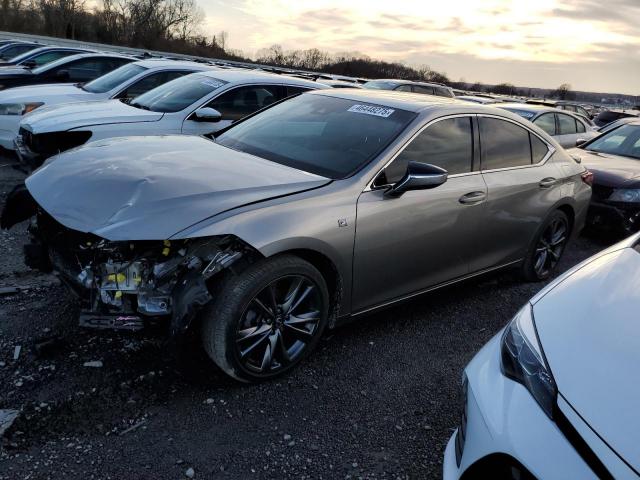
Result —
[[471, 118], [448, 118], [428, 127], [385, 169], [385, 178], [376, 183], [399, 181], [411, 161], [436, 165], [449, 175], [470, 172], [473, 161]]

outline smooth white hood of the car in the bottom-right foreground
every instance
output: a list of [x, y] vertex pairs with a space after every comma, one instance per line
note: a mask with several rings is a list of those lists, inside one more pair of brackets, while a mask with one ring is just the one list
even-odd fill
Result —
[[640, 469], [640, 253], [604, 254], [534, 304], [558, 391], [618, 455]]

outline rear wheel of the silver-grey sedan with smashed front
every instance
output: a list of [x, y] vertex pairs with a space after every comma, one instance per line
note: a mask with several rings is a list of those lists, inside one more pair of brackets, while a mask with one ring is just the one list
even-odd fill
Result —
[[[555, 210], [542, 223], [522, 263], [522, 277], [530, 282], [548, 279], [557, 267], [571, 235], [567, 215]], [[542, 252], [544, 250], [544, 252]], [[542, 267], [540, 266], [541, 257]]]

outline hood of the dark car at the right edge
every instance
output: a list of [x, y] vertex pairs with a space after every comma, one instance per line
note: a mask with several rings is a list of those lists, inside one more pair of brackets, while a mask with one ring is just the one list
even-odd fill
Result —
[[613, 188], [640, 186], [640, 160], [579, 148], [570, 150], [569, 153], [582, 158], [582, 165], [593, 172], [593, 183], [596, 185]]

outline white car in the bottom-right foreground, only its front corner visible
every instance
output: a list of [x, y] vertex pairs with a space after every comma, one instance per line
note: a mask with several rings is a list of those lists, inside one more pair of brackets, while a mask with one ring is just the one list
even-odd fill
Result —
[[463, 376], [444, 480], [640, 478], [640, 235], [545, 287]]

